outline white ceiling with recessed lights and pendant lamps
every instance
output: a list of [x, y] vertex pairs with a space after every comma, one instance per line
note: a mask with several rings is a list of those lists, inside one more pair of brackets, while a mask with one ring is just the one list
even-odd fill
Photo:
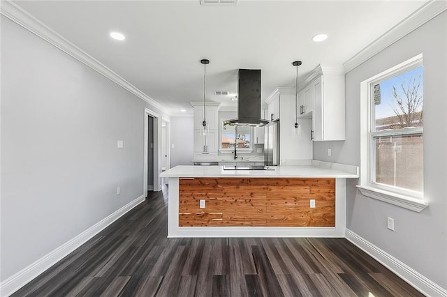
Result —
[[[200, 59], [210, 59], [206, 100], [235, 105], [213, 92], [234, 96], [239, 68], [262, 70], [265, 99], [277, 86], [295, 86], [293, 61], [302, 61], [300, 78], [319, 63], [341, 65], [425, 2], [15, 1], [171, 114], [203, 100]], [[314, 43], [317, 33], [328, 40]]]

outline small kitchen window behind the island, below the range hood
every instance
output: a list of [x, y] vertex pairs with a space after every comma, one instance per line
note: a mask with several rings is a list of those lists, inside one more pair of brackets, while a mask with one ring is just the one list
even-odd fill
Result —
[[234, 151], [237, 143], [237, 151], [251, 152], [251, 127], [223, 125], [224, 121], [226, 119], [221, 120], [220, 150], [228, 153]]

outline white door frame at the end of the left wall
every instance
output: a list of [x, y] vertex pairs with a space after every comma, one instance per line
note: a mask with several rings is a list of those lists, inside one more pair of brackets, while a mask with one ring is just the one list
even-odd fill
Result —
[[145, 108], [145, 135], [144, 135], [144, 149], [143, 149], [143, 194], [147, 194], [147, 141], [149, 140], [147, 133], [149, 132], [148, 116], [154, 118], [154, 191], [161, 190], [161, 183], [159, 174], [161, 173], [161, 116], [151, 109]]

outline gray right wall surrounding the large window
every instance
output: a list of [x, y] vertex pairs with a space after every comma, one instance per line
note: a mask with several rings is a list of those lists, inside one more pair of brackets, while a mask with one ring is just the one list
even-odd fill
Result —
[[[314, 158], [360, 165], [360, 82], [423, 53], [424, 195], [421, 213], [360, 195], [348, 183], [347, 227], [447, 289], [447, 13], [346, 74], [346, 141], [314, 143]], [[332, 158], [327, 149], [332, 147]], [[395, 231], [386, 218], [395, 219]]]

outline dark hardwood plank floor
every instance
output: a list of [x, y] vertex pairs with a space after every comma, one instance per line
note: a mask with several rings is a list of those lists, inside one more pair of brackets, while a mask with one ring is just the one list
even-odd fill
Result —
[[423, 296], [344, 238], [166, 238], [167, 197], [149, 192], [13, 296]]

